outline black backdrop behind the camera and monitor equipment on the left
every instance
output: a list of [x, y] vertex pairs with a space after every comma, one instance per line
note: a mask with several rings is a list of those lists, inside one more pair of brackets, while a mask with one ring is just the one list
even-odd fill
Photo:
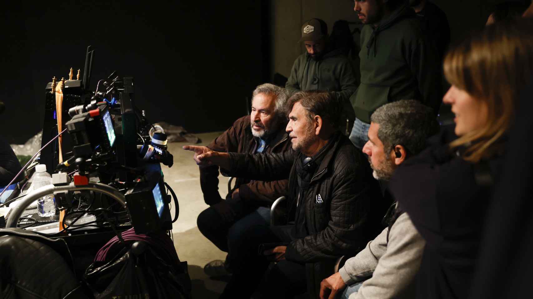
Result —
[[[91, 89], [114, 70], [133, 76], [152, 122], [190, 132], [227, 129], [266, 81], [261, 1], [64, 1], [0, 12], [0, 134], [24, 143], [42, 129], [44, 88], [95, 49]], [[265, 66], [263, 66], [265, 65]], [[76, 74], [75, 71], [75, 74]]]

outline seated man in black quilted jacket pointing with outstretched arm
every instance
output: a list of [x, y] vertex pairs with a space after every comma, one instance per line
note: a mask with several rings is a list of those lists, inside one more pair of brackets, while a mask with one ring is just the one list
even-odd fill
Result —
[[[233, 276], [221, 298], [249, 298], [268, 259], [278, 263], [266, 277], [264, 297], [290, 297], [307, 291], [318, 297], [320, 281], [333, 274], [338, 257], [364, 248], [381, 226], [383, 204], [367, 159], [336, 131], [341, 105], [330, 93], [297, 92], [288, 101], [286, 131], [295, 151], [281, 153], [195, 151], [199, 165], [254, 180], [289, 180], [289, 213], [294, 224], [251, 227], [242, 238]], [[261, 243], [279, 243], [257, 254]], [[264, 255], [267, 255], [266, 259]]]

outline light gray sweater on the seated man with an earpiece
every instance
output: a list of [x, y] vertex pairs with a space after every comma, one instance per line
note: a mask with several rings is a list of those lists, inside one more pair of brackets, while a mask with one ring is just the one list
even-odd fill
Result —
[[339, 270], [347, 285], [365, 280], [350, 299], [413, 297], [410, 296], [411, 281], [420, 266], [425, 241], [407, 213], [400, 215], [392, 225], [388, 244], [387, 230], [389, 228], [383, 229]]

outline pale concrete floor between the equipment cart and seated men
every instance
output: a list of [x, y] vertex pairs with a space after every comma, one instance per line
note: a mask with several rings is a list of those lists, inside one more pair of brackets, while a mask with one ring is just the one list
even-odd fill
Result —
[[[202, 142], [195, 145], [206, 146], [221, 133], [196, 134]], [[193, 152], [181, 148], [187, 144], [190, 143], [169, 143], [168, 150], [174, 156], [174, 165], [171, 168], [161, 165], [165, 182], [172, 187], [180, 204], [180, 215], [172, 229], [174, 246], [180, 260], [187, 261], [189, 265], [192, 298], [218, 298], [226, 283], [223, 280], [210, 279], [204, 274], [203, 268], [209, 261], [225, 259], [226, 253], [209, 242], [196, 226], [196, 218], [208, 206], [200, 189], [200, 173], [192, 159]], [[222, 198], [228, 193], [228, 180], [228, 177], [219, 176], [219, 192]], [[171, 213], [174, 216], [174, 210]]]

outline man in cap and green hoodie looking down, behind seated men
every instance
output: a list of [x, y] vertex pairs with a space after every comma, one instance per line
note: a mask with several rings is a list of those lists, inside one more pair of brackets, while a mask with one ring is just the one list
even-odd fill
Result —
[[343, 133], [348, 131], [349, 123], [356, 118], [349, 98], [357, 89], [350, 60], [340, 49], [332, 49], [328, 26], [320, 19], [311, 19], [302, 25], [300, 42], [307, 52], [296, 58], [285, 88], [291, 96], [298, 91], [333, 91], [343, 105], [339, 129]]

